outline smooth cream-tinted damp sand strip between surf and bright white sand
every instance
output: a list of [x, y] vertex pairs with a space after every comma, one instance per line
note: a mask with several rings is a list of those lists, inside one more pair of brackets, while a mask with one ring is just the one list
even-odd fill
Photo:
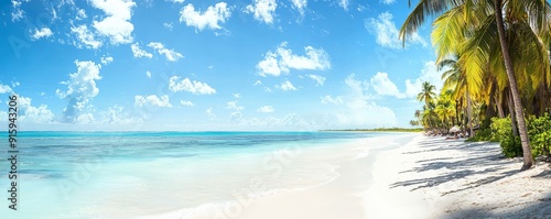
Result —
[[[237, 217], [239, 219], [361, 219], [368, 216], [365, 208], [363, 191], [372, 184], [372, 166], [379, 153], [397, 150], [403, 146], [403, 139], [412, 139], [415, 134], [401, 134], [402, 142], [396, 136], [378, 136], [363, 144], [368, 146], [367, 156], [343, 161], [334, 180], [298, 191], [277, 194], [256, 200], [248, 209]], [[383, 145], [367, 145], [369, 143], [387, 142]]]

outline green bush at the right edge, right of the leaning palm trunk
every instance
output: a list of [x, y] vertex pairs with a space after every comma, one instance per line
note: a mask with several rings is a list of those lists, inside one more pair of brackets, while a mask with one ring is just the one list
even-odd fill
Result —
[[528, 118], [528, 135], [533, 157], [551, 154], [551, 117], [548, 113]]

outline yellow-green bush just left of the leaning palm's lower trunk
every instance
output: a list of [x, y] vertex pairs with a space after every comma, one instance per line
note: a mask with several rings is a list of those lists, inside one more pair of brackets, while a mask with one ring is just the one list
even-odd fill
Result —
[[522, 155], [520, 138], [512, 135], [510, 118], [491, 118], [491, 138], [490, 141], [499, 142], [503, 153], [507, 157]]

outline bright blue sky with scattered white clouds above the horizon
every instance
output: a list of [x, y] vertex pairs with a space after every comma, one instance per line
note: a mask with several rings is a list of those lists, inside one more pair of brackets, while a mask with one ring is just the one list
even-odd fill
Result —
[[[21, 130], [409, 127], [442, 85], [397, 0], [12, 0], [0, 95]], [[0, 108], [6, 124], [8, 106]]]

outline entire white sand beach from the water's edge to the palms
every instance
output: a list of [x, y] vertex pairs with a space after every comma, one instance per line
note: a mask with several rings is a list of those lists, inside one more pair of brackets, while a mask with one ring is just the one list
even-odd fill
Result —
[[375, 146], [366, 157], [343, 161], [331, 183], [198, 218], [551, 217], [549, 164], [526, 172], [520, 166], [519, 158], [504, 158], [496, 143], [415, 134], [404, 145]]

